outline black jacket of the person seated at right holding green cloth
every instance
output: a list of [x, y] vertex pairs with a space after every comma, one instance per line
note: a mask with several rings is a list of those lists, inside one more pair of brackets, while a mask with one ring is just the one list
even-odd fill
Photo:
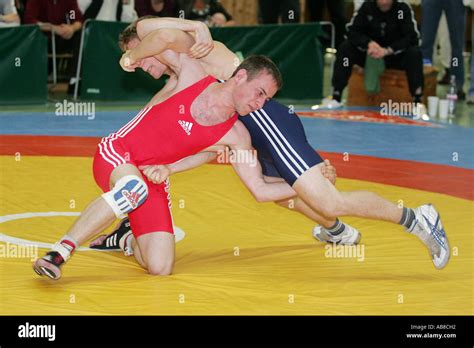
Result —
[[362, 51], [367, 50], [370, 41], [391, 47], [394, 54], [420, 45], [420, 33], [410, 5], [397, 0], [388, 12], [380, 11], [375, 1], [364, 2], [346, 28], [349, 42]]

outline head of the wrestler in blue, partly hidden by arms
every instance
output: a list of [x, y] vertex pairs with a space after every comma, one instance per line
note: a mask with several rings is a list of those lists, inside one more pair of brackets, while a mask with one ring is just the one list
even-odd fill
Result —
[[[140, 43], [140, 38], [137, 34], [137, 23], [143, 19], [152, 17], [153, 16], [141, 17], [122, 31], [119, 36], [119, 46], [122, 52], [132, 50], [138, 46]], [[155, 57], [141, 59], [138, 67], [150, 74], [155, 79], [159, 79], [168, 70], [168, 67]]]

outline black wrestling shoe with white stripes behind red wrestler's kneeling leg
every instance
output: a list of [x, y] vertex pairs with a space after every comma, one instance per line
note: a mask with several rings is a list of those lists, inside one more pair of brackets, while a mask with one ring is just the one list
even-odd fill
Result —
[[132, 236], [130, 221], [124, 219], [115, 231], [109, 235], [104, 234], [94, 239], [89, 247], [100, 250], [123, 250], [126, 256], [131, 256], [133, 255], [130, 238]]

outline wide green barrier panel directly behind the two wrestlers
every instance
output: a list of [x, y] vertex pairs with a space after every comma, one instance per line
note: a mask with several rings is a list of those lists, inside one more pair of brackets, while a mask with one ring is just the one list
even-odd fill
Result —
[[[147, 101], [164, 84], [137, 69], [124, 72], [117, 41], [126, 23], [91, 21], [86, 26], [82, 60], [81, 99]], [[283, 89], [277, 97], [313, 100], [322, 97], [323, 54], [318, 24], [213, 28], [213, 37], [244, 57], [264, 54], [279, 66]]]

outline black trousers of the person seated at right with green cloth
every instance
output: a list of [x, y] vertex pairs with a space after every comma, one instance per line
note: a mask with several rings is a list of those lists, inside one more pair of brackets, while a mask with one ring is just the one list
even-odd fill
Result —
[[[342, 94], [351, 77], [352, 67], [354, 64], [363, 67], [366, 56], [366, 51], [359, 50], [347, 40], [339, 46], [332, 76], [334, 91]], [[412, 96], [423, 93], [423, 56], [420, 47], [412, 46], [402, 53], [387, 56], [384, 60], [386, 69], [404, 70], [406, 72]], [[416, 90], [419, 88], [421, 88], [421, 93], [416, 93]]]

